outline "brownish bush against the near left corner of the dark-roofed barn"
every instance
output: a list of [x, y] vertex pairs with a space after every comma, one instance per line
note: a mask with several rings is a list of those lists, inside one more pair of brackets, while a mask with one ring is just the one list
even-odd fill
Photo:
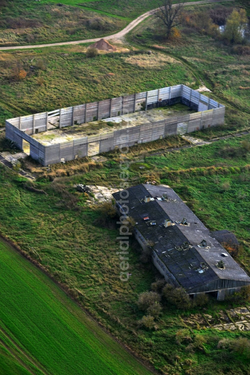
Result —
[[189, 295], [183, 288], [174, 288], [167, 284], [163, 288], [163, 296], [170, 305], [176, 306], [177, 309], [188, 310], [192, 305]]

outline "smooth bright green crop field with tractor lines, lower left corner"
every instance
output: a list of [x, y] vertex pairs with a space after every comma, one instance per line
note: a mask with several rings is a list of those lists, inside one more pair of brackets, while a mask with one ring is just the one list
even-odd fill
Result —
[[0, 374], [151, 374], [2, 241], [0, 263]]

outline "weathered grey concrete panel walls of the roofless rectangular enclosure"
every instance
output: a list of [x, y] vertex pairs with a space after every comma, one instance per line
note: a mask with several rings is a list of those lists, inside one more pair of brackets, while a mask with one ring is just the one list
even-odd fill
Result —
[[[151, 109], [172, 105], [177, 102], [186, 104], [198, 112], [49, 146], [44, 146], [30, 137], [31, 134], [47, 130], [48, 121], [53, 116], [58, 116], [59, 127], [64, 127], [133, 113], [142, 108]], [[88, 144], [93, 142], [99, 142], [99, 153], [102, 153], [114, 150], [121, 144], [133, 146], [177, 134], [178, 124], [184, 123], [187, 133], [223, 124], [224, 116], [225, 107], [222, 104], [185, 85], [177, 85], [51, 112], [11, 118], [6, 120], [6, 138], [15, 142], [21, 149], [22, 140], [25, 139], [30, 143], [30, 155], [43, 165], [49, 165], [88, 156]]]

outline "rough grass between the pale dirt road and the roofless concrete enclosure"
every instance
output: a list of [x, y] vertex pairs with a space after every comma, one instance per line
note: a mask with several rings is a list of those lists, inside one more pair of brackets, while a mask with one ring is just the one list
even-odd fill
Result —
[[[194, 81], [182, 63], [160, 52], [139, 52], [137, 58], [133, 51], [115, 52], [90, 59], [85, 51], [78, 45], [0, 52], [0, 103], [11, 112], [7, 118]], [[16, 65], [27, 72], [24, 80], [13, 78]], [[5, 119], [2, 113], [1, 124]]]

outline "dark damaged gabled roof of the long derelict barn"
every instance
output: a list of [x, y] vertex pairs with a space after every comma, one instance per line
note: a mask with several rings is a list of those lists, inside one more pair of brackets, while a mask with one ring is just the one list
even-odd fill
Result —
[[[182, 287], [192, 290], [218, 279], [250, 283], [249, 276], [169, 186], [140, 184], [127, 190], [128, 216], [136, 221], [136, 228], [142, 236], [150, 244], [154, 244], [154, 251]], [[163, 193], [166, 193], [167, 201], [157, 199], [162, 198]], [[116, 201], [120, 201], [119, 192], [113, 196]], [[145, 196], [151, 200], [145, 202]], [[144, 220], [145, 216], [148, 216], [149, 220]], [[184, 217], [190, 223], [189, 226], [176, 223]], [[165, 219], [169, 219], [175, 225], [166, 228]], [[151, 220], [156, 220], [156, 225], [148, 225], [147, 222]], [[207, 241], [209, 248], [198, 246], [202, 240]], [[184, 242], [189, 242], [192, 246], [183, 251], [175, 248]], [[228, 256], [225, 257], [222, 253]], [[224, 262], [225, 269], [216, 266], [218, 261]], [[201, 271], [201, 263], [205, 263], [207, 267], [204, 272]]]

